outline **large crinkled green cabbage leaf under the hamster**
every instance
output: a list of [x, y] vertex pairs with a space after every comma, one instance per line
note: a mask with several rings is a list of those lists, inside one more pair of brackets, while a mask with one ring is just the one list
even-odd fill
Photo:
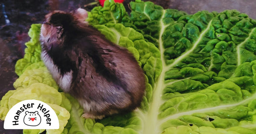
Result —
[[86, 21], [127, 48], [143, 68], [140, 108], [101, 120], [82, 118], [83, 108], [61, 92], [41, 62], [40, 24], [33, 24], [25, 56], [15, 66], [16, 90], [0, 101], [0, 119], [33, 93], [56, 107], [63, 126], [47, 134], [256, 134], [256, 20], [235, 10], [187, 14], [141, 0], [129, 7], [130, 14], [106, 0]]

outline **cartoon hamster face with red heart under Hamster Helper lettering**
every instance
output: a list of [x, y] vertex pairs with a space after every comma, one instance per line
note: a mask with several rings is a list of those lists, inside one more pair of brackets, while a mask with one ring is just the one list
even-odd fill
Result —
[[29, 126], [37, 126], [41, 123], [41, 116], [37, 111], [35, 112], [25, 112], [24, 123]]

